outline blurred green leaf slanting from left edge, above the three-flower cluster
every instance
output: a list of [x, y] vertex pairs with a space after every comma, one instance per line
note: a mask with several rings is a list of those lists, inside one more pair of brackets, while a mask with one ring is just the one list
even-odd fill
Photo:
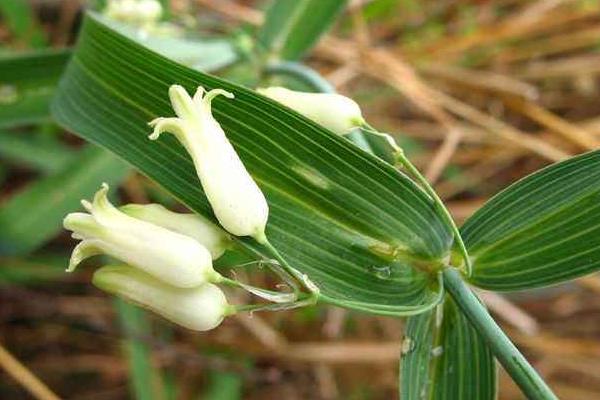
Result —
[[88, 146], [57, 173], [42, 178], [0, 205], [0, 254], [31, 252], [62, 228], [102, 182], [116, 184], [128, 168], [110, 153]]

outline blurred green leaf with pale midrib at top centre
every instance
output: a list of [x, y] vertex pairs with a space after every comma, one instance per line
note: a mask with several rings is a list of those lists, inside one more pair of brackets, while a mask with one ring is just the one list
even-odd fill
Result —
[[275, 0], [258, 41], [278, 58], [297, 60], [310, 50], [346, 6], [346, 0]]

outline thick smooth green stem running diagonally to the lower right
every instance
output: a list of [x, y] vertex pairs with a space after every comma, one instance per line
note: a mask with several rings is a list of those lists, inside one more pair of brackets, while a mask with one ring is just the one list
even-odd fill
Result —
[[525, 396], [530, 400], [557, 400], [558, 397], [552, 393], [546, 382], [496, 324], [479, 299], [467, 287], [458, 271], [446, 268], [443, 277], [447, 291]]

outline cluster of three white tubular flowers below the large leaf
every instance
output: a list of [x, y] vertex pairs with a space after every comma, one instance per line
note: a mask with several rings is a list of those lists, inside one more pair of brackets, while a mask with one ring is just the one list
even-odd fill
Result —
[[104, 184], [92, 203], [82, 201], [88, 213], [65, 217], [64, 227], [81, 240], [67, 271], [94, 255], [116, 258], [124, 264], [98, 269], [96, 286], [190, 329], [212, 329], [233, 312], [212, 284], [222, 279], [212, 261], [229, 246], [227, 233], [198, 215], [158, 204], [117, 209], [107, 193]]

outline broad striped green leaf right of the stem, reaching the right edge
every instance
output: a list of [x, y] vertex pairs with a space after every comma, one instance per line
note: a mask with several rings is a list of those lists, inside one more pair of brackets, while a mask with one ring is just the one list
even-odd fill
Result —
[[513, 184], [462, 228], [470, 283], [492, 290], [552, 285], [600, 270], [600, 152]]

